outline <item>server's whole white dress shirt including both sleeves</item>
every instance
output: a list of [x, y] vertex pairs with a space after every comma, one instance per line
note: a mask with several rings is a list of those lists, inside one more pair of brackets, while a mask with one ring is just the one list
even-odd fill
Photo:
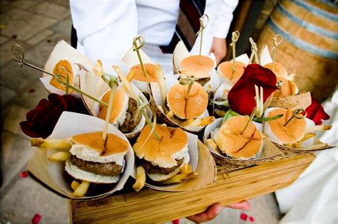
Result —
[[[121, 60], [137, 35], [145, 38], [143, 50], [155, 63], [168, 66], [167, 46], [178, 20], [180, 0], [70, 0], [78, 50], [93, 61], [100, 59], [105, 68]], [[210, 21], [203, 34], [203, 54], [208, 55], [212, 38], [225, 38], [238, 0], [207, 0], [205, 14]], [[191, 53], [197, 54], [199, 37]], [[165, 55], [165, 56], [163, 56]], [[171, 66], [170, 66], [171, 67]]]

